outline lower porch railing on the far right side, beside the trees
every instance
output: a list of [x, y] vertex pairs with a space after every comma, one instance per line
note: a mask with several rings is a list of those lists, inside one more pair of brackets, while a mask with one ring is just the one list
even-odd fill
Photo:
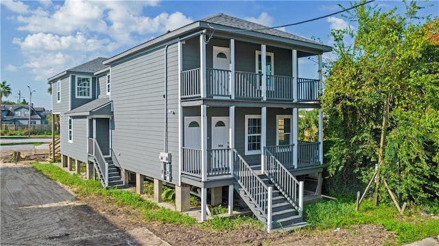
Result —
[[297, 168], [320, 164], [319, 142], [299, 141], [297, 149]]

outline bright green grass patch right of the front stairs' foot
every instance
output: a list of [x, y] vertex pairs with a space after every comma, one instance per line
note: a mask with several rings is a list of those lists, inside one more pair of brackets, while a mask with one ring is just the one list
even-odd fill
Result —
[[383, 225], [396, 234], [398, 243], [410, 243], [439, 234], [439, 219], [420, 217], [419, 211], [406, 211], [401, 217], [394, 204], [381, 203], [378, 207], [365, 200], [359, 211], [355, 201], [320, 201], [305, 206], [305, 220], [317, 229], [333, 229], [359, 224]]

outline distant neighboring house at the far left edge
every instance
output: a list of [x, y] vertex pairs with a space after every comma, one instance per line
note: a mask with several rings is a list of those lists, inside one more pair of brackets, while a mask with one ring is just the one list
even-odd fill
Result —
[[[31, 125], [47, 124], [45, 108], [31, 107], [30, 123]], [[29, 124], [29, 105], [1, 105], [1, 123], [12, 125]]]

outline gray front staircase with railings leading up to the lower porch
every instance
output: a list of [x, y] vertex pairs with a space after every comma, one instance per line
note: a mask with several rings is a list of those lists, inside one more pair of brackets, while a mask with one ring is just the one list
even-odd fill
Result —
[[[261, 173], [261, 166], [250, 167], [235, 149], [233, 151], [235, 190], [263, 223], [265, 230], [290, 231], [309, 225], [302, 216], [303, 189], [297, 188], [302, 184], [289, 173], [282, 176], [288, 180], [288, 186], [294, 187], [283, 188], [285, 184], [278, 182], [272, 170]], [[268, 160], [273, 160], [272, 156]], [[272, 169], [272, 165], [268, 166]], [[292, 190], [294, 195], [291, 195]]]

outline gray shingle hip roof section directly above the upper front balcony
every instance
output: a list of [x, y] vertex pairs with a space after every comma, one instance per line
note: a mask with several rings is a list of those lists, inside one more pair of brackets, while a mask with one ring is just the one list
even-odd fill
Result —
[[246, 21], [243, 19], [239, 19], [233, 16], [228, 16], [227, 14], [219, 13], [215, 14], [213, 16], [206, 17], [204, 19], [201, 19], [200, 21], [204, 21], [206, 23], [213, 23], [218, 25], [224, 25], [226, 27], [234, 27], [239, 29], [246, 29], [252, 32], [260, 32], [262, 34], [269, 34], [273, 36], [279, 36], [283, 38], [289, 38], [292, 40], [299, 40], [303, 42], [311, 42], [316, 45], [322, 45], [320, 42], [316, 42], [314, 40], [310, 40], [308, 38], [302, 38], [300, 36], [290, 34], [288, 32], [283, 32], [278, 29], [272, 29], [270, 27], [267, 27], [265, 25], [260, 25], [257, 23], [252, 23], [250, 21]]

